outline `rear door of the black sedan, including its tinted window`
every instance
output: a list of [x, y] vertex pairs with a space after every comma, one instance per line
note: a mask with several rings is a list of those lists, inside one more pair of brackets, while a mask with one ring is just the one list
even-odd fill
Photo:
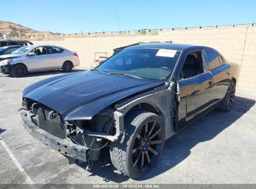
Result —
[[216, 52], [204, 50], [204, 54], [206, 55], [209, 70], [213, 75], [212, 101], [217, 103], [224, 98], [229, 86], [230, 65], [225, 64], [224, 58]]

